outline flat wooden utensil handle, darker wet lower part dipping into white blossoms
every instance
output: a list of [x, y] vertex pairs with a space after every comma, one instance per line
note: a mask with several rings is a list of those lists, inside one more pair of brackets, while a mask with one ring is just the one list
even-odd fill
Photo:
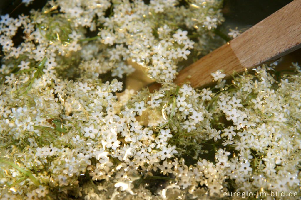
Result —
[[189, 81], [192, 87], [212, 82], [211, 73], [240, 72], [263, 62], [280, 58], [301, 47], [301, 0], [294, 0], [257, 23], [237, 38], [204, 56], [179, 72], [178, 85]]

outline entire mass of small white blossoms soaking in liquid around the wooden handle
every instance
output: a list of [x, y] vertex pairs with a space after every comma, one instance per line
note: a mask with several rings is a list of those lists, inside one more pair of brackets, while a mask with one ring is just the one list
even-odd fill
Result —
[[[60, 0], [1, 16], [1, 199], [301, 192], [299, 65], [176, 86], [178, 62], [223, 20], [221, 1], [182, 4]], [[162, 87], [125, 89], [129, 59]]]

